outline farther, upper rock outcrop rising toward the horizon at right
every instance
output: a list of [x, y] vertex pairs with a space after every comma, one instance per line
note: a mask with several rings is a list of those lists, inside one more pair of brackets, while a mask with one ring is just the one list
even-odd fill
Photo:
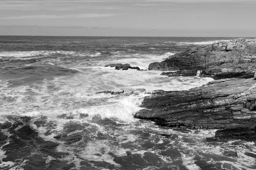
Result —
[[148, 70], [179, 70], [165, 73], [168, 76], [196, 75], [194, 73], [201, 70], [202, 76], [214, 79], [253, 78], [256, 71], [255, 52], [256, 39], [219, 41], [174, 54], [162, 62], [151, 63]]

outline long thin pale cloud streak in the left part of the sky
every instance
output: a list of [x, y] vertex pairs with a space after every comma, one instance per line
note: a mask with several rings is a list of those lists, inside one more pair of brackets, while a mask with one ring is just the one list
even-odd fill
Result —
[[121, 14], [71, 14], [71, 15], [23, 15], [23, 16], [7, 16], [0, 19], [60, 19], [60, 18], [103, 18], [117, 16]]

